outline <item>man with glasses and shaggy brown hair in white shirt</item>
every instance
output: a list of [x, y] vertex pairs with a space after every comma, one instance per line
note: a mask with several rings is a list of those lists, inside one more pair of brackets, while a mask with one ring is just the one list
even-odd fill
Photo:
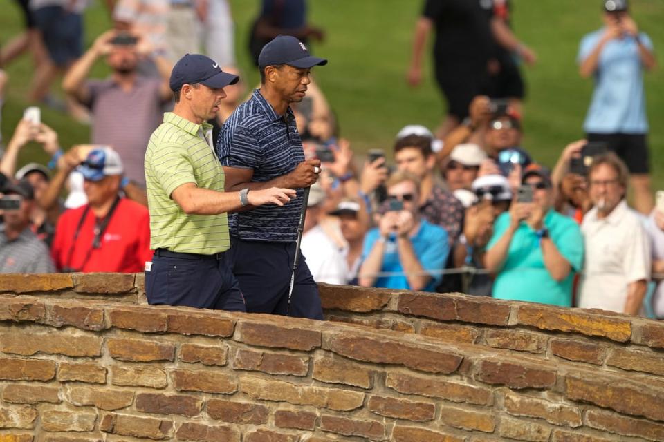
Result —
[[586, 258], [579, 307], [639, 314], [651, 270], [647, 233], [625, 201], [629, 171], [614, 153], [588, 171], [595, 205], [583, 218]]

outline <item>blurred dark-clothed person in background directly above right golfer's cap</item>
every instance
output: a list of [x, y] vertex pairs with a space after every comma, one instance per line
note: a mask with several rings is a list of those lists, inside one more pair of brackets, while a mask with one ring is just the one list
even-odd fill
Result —
[[323, 30], [307, 23], [306, 8], [306, 0], [261, 1], [261, 14], [252, 26], [249, 41], [256, 66], [263, 47], [277, 35], [292, 35], [307, 47], [309, 39], [323, 40]]

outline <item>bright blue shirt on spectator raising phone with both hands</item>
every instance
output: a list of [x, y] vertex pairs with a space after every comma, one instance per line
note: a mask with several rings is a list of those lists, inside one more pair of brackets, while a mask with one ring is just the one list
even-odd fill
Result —
[[[380, 238], [378, 229], [371, 229], [365, 236], [365, 244], [362, 248], [362, 262], [367, 259], [374, 244]], [[450, 245], [448, 244], [448, 232], [442, 227], [430, 224], [426, 220], [420, 221], [420, 228], [415, 236], [410, 238], [415, 255], [425, 271], [440, 272], [445, 268], [448, 260]], [[391, 238], [385, 243], [385, 255], [382, 257], [381, 272], [403, 273], [403, 267], [399, 261], [399, 251], [396, 238]], [[443, 276], [440, 273], [432, 274], [431, 280], [423, 291], [436, 291]], [[410, 289], [408, 280], [404, 275], [383, 276], [376, 280], [374, 287], [386, 289]]]

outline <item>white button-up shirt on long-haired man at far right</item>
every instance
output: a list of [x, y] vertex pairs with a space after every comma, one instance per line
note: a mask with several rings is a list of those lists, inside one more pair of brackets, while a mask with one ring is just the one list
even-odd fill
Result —
[[581, 231], [586, 254], [579, 307], [622, 313], [627, 285], [650, 277], [649, 238], [639, 215], [625, 200], [603, 219], [593, 208]]

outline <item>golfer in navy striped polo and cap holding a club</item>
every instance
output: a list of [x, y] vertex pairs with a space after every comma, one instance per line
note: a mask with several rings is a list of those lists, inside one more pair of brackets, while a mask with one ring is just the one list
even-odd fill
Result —
[[[320, 173], [319, 160], [304, 160], [291, 103], [301, 102], [313, 66], [306, 46], [280, 35], [259, 57], [261, 88], [241, 104], [219, 132], [217, 154], [224, 166], [226, 191], [297, 189], [282, 207], [261, 206], [229, 215], [231, 249], [226, 252], [246, 300], [248, 312], [286, 314], [295, 240], [304, 188]], [[304, 258], [295, 272], [291, 316], [322, 319], [316, 283]]]

